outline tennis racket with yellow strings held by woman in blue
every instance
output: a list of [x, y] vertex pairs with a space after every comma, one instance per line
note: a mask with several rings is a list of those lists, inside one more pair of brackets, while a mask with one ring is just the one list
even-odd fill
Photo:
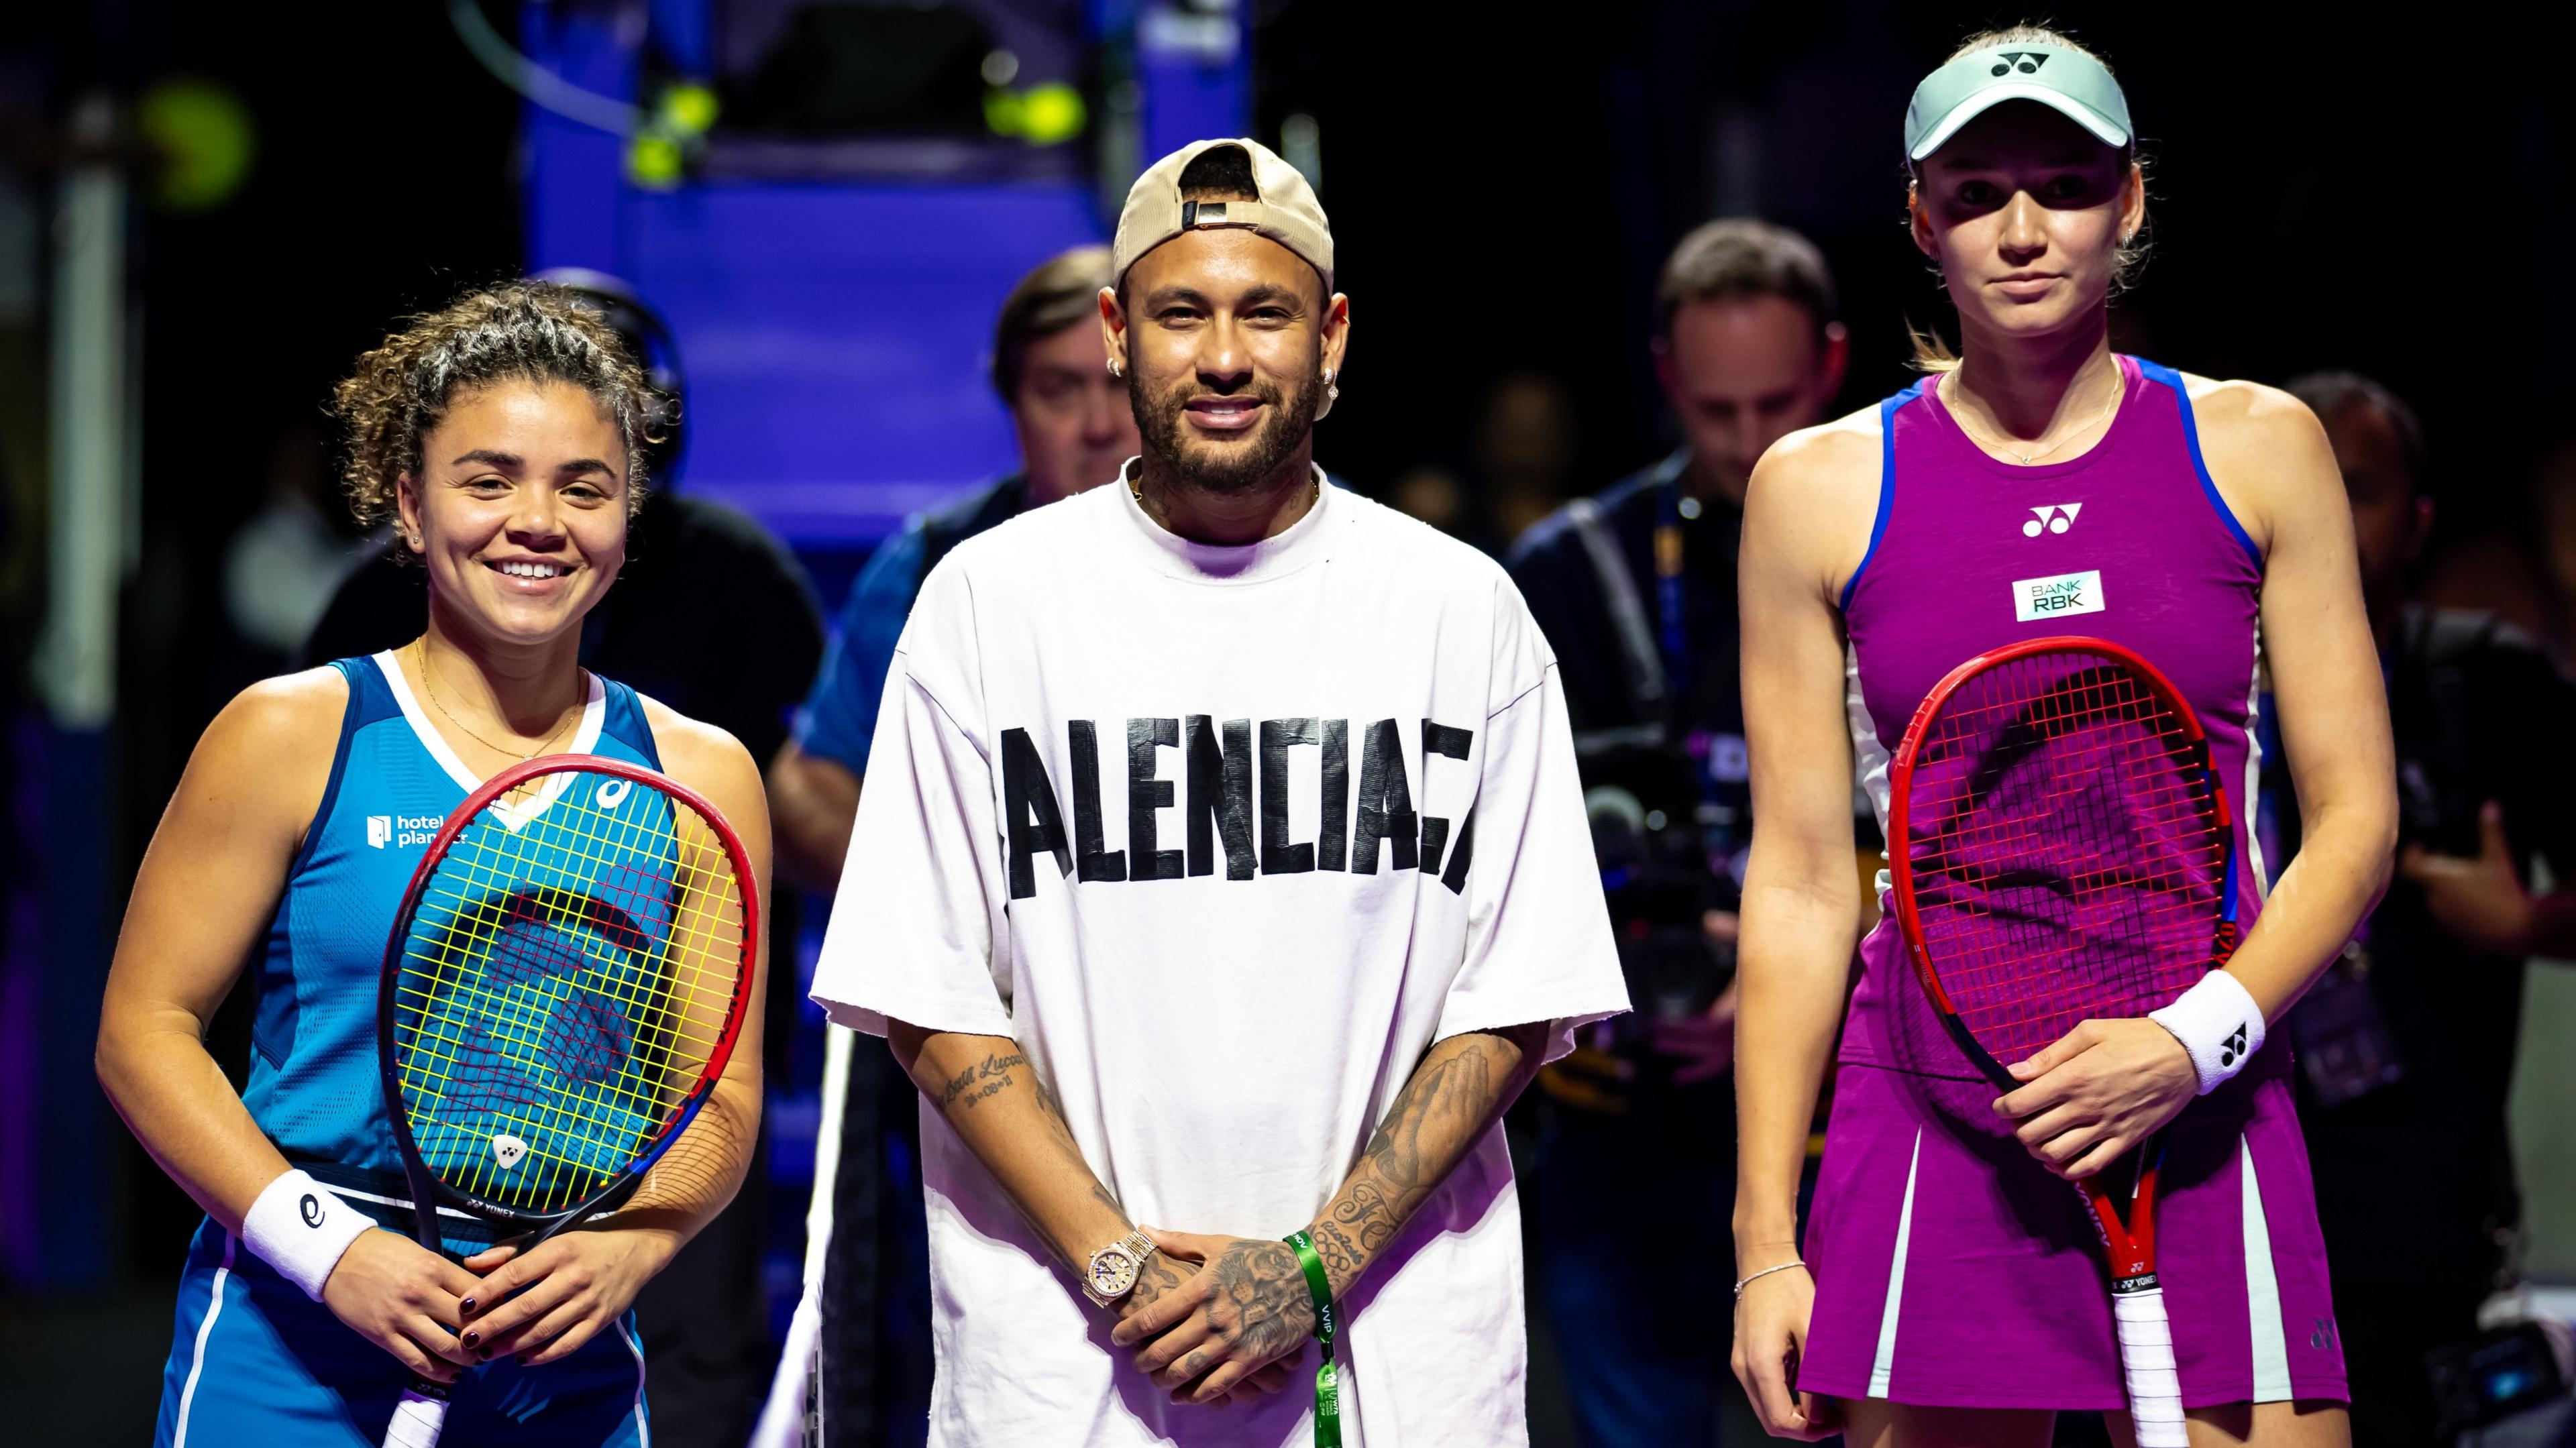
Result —
[[[750, 1015], [760, 902], [706, 799], [623, 760], [549, 755], [448, 814], [384, 946], [376, 1043], [420, 1244], [438, 1208], [520, 1250], [634, 1193], [706, 1105]], [[412, 1378], [386, 1448], [430, 1448]]]

